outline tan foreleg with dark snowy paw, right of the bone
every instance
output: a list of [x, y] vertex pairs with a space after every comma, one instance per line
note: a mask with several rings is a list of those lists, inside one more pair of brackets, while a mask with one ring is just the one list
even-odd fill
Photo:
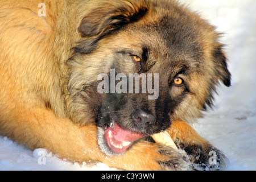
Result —
[[187, 152], [193, 169], [224, 169], [225, 156], [207, 140], [200, 137], [192, 127], [183, 121], [175, 121], [168, 129], [177, 147]]

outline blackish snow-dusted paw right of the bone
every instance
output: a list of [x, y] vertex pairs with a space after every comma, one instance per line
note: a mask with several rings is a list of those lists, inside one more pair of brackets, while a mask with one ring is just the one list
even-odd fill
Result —
[[177, 144], [177, 146], [184, 150], [191, 162], [190, 168], [197, 171], [220, 171], [224, 170], [228, 159], [209, 143], [204, 145], [183, 143]]

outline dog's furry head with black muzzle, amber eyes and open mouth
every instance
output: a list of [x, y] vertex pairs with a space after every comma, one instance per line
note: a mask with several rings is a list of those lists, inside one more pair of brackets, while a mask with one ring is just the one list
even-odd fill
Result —
[[199, 16], [172, 1], [112, 3], [82, 19], [69, 60], [74, 118], [96, 121], [107, 155], [200, 117], [218, 80], [230, 85], [218, 35]]

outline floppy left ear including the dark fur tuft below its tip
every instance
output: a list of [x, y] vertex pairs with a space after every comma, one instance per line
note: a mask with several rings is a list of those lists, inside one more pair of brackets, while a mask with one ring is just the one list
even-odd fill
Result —
[[99, 40], [114, 34], [126, 24], [137, 22], [147, 10], [143, 0], [113, 0], [97, 7], [82, 19], [78, 31], [84, 39], [74, 47], [75, 51], [83, 54], [93, 52]]

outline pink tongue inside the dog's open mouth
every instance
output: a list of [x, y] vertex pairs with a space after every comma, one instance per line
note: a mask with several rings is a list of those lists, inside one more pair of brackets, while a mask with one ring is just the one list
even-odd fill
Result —
[[129, 142], [134, 142], [142, 137], [146, 137], [146, 135], [123, 129], [122, 127], [118, 126], [116, 123], [114, 124], [114, 127], [113, 127], [113, 135], [115, 140], [118, 140], [118, 141], [126, 140]]

